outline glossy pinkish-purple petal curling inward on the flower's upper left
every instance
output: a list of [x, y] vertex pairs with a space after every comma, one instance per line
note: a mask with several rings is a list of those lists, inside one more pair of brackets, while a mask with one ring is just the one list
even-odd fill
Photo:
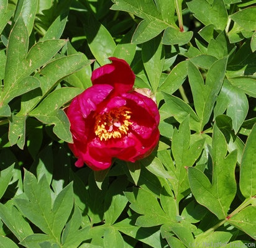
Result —
[[113, 87], [109, 84], [97, 84], [78, 95], [77, 98], [83, 117], [86, 118], [89, 113], [95, 111], [97, 106], [106, 99], [112, 89]]

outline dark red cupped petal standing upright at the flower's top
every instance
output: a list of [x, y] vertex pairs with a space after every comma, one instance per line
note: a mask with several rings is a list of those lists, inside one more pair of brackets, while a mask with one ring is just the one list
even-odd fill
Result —
[[93, 71], [91, 81], [93, 85], [109, 84], [114, 87], [115, 94], [128, 92], [134, 86], [135, 75], [129, 64], [118, 58], [111, 57], [111, 64], [105, 64]]

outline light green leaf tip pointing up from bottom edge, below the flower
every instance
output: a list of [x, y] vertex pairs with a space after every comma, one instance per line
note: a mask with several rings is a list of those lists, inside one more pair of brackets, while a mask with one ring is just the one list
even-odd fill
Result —
[[104, 247], [124, 247], [124, 239], [120, 232], [111, 226], [104, 232]]

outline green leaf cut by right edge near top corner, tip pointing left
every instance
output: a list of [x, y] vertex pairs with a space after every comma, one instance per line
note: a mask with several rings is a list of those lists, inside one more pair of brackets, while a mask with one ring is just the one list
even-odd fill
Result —
[[235, 14], [231, 15], [231, 19], [237, 22], [243, 29], [254, 31], [256, 29], [255, 15], [256, 7], [253, 6], [235, 12]]

